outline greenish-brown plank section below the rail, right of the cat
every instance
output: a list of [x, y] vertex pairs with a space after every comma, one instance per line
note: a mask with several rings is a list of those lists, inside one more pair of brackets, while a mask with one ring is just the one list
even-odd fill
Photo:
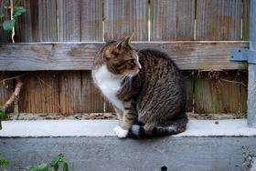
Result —
[[234, 72], [203, 72], [195, 79], [195, 112], [240, 113], [240, 78]]

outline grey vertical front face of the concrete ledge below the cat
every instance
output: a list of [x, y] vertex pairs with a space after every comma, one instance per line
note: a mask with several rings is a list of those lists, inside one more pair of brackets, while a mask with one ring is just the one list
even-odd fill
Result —
[[255, 136], [118, 139], [115, 136], [0, 138], [8, 171], [48, 161], [59, 153], [74, 171], [240, 171], [242, 146], [256, 152]]

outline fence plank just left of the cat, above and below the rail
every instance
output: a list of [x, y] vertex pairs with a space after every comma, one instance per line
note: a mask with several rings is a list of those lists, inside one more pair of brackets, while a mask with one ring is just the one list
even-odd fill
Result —
[[[58, 0], [59, 41], [102, 41], [101, 0]], [[104, 99], [93, 85], [91, 71], [61, 72], [61, 113], [103, 112]]]

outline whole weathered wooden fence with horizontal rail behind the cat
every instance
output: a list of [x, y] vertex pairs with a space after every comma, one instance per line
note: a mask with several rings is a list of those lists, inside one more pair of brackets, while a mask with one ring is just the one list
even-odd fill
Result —
[[[5, 44], [0, 28], [0, 80], [25, 75], [20, 112], [112, 112], [91, 82], [92, 61], [101, 42], [134, 33], [134, 47], [161, 49], [184, 70], [187, 111], [246, 113], [247, 65], [229, 62], [228, 52], [248, 46], [249, 0], [21, 2], [19, 44]], [[3, 83], [0, 105], [15, 84]]]

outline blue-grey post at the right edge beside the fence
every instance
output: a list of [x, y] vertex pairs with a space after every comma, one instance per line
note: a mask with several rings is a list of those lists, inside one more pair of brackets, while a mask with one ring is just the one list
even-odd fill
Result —
[[[251, 0], [250, 50], [256, 53], [256, 1]], [[249, 63], [248, 126], [256, 127], [256, 64]]]

